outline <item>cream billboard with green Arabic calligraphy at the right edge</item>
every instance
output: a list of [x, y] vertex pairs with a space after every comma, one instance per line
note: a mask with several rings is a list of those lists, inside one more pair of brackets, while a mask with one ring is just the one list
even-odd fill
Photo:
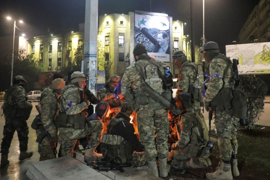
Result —
[[270, 73], [270, 42], [226, 46], [226, 56], [238, 59], [239, 74]]

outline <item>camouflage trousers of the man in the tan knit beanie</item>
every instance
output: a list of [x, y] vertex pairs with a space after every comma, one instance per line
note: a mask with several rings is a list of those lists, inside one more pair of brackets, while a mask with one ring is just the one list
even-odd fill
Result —
[[[40, 129], [36, 130], [37, 137], [42, 133]], [[44, 137], [41, 143], [38, 143], [38, 153], [40, 154], [40, 160], [49, 160], [56, 158], [54, 150], [52, 150], [51, 143], [47, 136]]]

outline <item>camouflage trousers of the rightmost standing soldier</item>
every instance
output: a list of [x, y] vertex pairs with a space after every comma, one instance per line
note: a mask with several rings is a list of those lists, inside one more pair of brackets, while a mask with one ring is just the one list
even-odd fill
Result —
[[214, 121], [218, 133], [218, 148], [222, 160], [230, 160], [232, 154], [237, 154], [236, 139], [237, 120], [226, 111], [216, 112]]

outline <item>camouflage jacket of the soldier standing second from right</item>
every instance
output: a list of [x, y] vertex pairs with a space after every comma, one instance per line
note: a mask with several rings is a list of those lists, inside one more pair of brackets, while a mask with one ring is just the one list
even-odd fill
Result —
[[[190, 65], [189, 65], [190, 64]], [[196, 66], [196, 64], [194, 64]], [[203, 85], [203, 74], [198, 74], [199, 79], [201, 79], [201, 85]], [[176, 92], [176, 96], [179, 92], [190, 92], [190, 87], [196, 86], [196, 69], [193, 65], [191, 65], [190, 61], [186, 61], [182, 64], [182, 66], [178, 70], [178, 89]], [[202, 96], [202, 88], [200, 89], [200, 96]], [[192, 108], [195, 111], [200, 111], [200, 99], [191, 98]]]

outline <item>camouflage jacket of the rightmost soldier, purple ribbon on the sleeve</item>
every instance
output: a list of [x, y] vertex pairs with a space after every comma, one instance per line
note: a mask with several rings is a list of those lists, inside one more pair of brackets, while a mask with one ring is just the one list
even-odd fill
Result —
[[[222, 55], [222, 56], [225, 57], [225, 55]], [[209, 83], [206, 84], [207, 85], [207, 89], [205, 92], [206, 102], [212, 101], [222, 88], [229, 87], [229, 81], [231, 78], [231, 69], [229, 68], [227, 72], [225, 72], [226, 67], [227, 67], [226, 60], [223, 60], [221, 58], [214, 57], [209, 62], [210, 79], [209, 79]], [[217, 75], [220, 75], [221, 78], [218, 77]]]

